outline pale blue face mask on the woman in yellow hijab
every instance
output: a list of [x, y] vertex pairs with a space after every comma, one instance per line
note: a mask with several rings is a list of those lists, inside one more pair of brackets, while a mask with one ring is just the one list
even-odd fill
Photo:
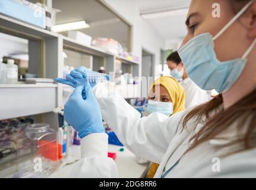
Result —
[[172, 102], [156, 102], [148, 100], [147, 112], [150, 114], [159, 112], [169, 117], [173, 113], [173, 104]]

